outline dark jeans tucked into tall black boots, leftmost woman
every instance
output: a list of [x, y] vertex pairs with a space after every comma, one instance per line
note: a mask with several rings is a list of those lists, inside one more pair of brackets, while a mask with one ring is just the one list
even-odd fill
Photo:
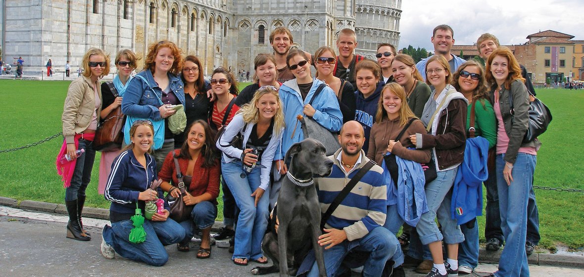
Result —
[[95, 160], [95, 150], [93, 150], [92, 144], [92, 141], [79, 139], [77, 150], [85, 149], [85, 153], [77, 158], [75, 170], [71, 177], [71, 186], [65, 189], [65, 201], [74, 201], [80, 196], [85, 196], [85, 189], [89, 185], [89, 181], [91, 181], [91, 170]]

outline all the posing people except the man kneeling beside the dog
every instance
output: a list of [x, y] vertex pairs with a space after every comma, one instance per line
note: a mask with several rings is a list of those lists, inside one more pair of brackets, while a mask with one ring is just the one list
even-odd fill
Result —
[[[452, 37], [452, 29], [440, 25], [432, 40], [453, 43]], [[132, 260], [164, 265], [168, 261], [165, 245], [176, 243], [178, 250], [189, 251], [190, 239], [200, 230], [197, 258], [210, 257], [210, 230], [221, 187], [227, 227], [233, 229], [234, 206], [239, 209], [232, 261], [265, 264], [262, 238], [281, 178], [287, 173], [284, 155], [304, 139], [297, 127], [300, 114], [331, 132], [339, 132], [343, 123], [357, 121], [363, 127], [367, 158], [382, 164], [388, 155], [395, 156], [398, 169], [383, 169], [390, 173], [384, 175], [387, 219], [373, 225], [392, 234], [404, 223], [404, 227], [415, 227], [409, 254], [422, 254], [423, 248], [413, 243], [416, 239], [418, 246], [427, 246], [433, 261], [427, 276], [456, 276], [463, 265], [471, 271], [477, 265], [475, 217], [482, 212], [481, 183], [488, 171], [499, 198], [501, 240], [506, 241], [499, 271], [493, 276], [529, 276], [522, 244], [526, 243], [527, 199], [540, 143], [537, 139], [522, 142], [529, 94], [519, 64], [512, 52], [499, 47], [494, 36], [481, 38], [478, 47], [491, 42], [486, 68], [440, 51], [416, 66], [412, 57], [397, 54], [391, 44], [379, 45], [377, 62], [354, 55], [356, 37], [350, 29], [339, 33], [339, 55], [326, 46], [311, 55], [290, 49], [290, 31], [278, 27], [270, 34], [273, 55], [255, 58], [254, 82], [241, 93], [235, 76], [225, 68], [215, 69], [210, 82], [204, 80], [200, 60], [193, 55], [183, 58], [171, 41], [150, 45], [144, 71], [136, 76], [131, 75], [136, 68], [134, 52], [118, 52], [114, 59], [118, 74], [110, 89], [99, 82], [109, 73], [109, 56], [91, 48], [82, 61], [83, 76], [69, 86], [62, 115], [65, 140], [60, 155], [77, 157], [77, 150], [85, 150], [64, 169], [67, 237], [91, 239], [81, 212], [95, 159], [93, 136], [100, 118], [121, 106], [128, 118], [141, 120], [127, 120], [122, 149], [102, 152], [99, 192], [112, 201], [112, 225], [103, 229], [102, 254], [113, 258], [117, 252]], [[314, 77], [312, 64], [317, 72]], [[322, 83], [327, 86], [312, 99]], [[185, 108], [187, 124], [177, 135], [169, 128], [168, 118], [176, 113], [173, 106], [178, 104]], [[236, 136], [242, 137], [241, 145], [233, 143]], [[488, 149], [494, 149], [496, 155], [491, 170], [486, 168]], [[423, 180], [422, 164], [435, 166], [433, 181]], [[465, 174], [477, 172], [484, 178], [468, 181]], [[137, 208], [144, 211], [145, 202], [165, 199], [165, 192], [178, 197], [177, 176], [181, 174], [187, 188], [183, 201], [194, 205], [190, 219], [170, 219], [164, 200], [162, 213], [144, 222], [145, 241], [131, 242], [128, 234]], [[415, 180], [409, 188], [413, 195], [403, 191], [409, 183], [404, 174]], [[162, 184], [151, 190], [152, 182], [159, 178]], [[455, 203], [453, 194], [463, 185], [465, 195], [454, 198], [463, 199], [464, 208], [451, 205]], [[392, 276], [403, 272], [404, 256], [401, 248], [397, 251]]]

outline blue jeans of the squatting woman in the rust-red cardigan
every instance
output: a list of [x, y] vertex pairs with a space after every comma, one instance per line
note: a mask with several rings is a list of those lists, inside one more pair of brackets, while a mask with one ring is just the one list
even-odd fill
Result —
[[181, 243], [186, 244], [193, 238], [194, 227], [206, 229], [213, 226], [217, 218], [217, 206], [209, 201], [199, 202], [190, 212], [190, 219], [180, 222], [180, 226], [185, 229], [185, 239]]

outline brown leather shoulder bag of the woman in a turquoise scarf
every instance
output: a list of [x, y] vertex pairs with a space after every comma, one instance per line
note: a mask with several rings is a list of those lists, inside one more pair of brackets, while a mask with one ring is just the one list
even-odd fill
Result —
[[[118, 96], [116, 87], [112, 82], [106, 82], [114, 97]], [[96, 151], [107, 152], [121, 148], [121, 142], [124, 138], [124, 122], [126, 115], [121, 113], [121, 106], [118, 106], [111, 111], [99, 125], [95, 132], [95, 139], [93, 140], [93, 149]]]

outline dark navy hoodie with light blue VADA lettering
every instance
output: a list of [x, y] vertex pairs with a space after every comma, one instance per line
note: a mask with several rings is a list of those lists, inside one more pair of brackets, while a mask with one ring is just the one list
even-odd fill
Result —
[[363, 151], [365, 151], [365, 153], [369, 150], [369, 134], [371, 132], [371, 127], [373, 127], [373, 123], [375, 123], [375, 114], [377, 113], [377, 106], [382, 88], [383, 80], [381, 80], [380, 83], [377, 83], [375, 92], [367, 98], [365, 98], [363, 93], [359, 92], [359, 90], [355, 92], [356, 107], [354, 120], [359, 121], [359, 123], [363, 125], [363, 131], [365, 132]]

